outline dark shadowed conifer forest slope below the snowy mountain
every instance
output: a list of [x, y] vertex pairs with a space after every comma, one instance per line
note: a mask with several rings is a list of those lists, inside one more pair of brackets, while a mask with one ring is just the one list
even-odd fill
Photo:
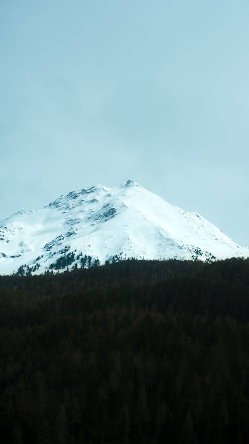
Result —
[[0, 277], [2, 444], [249, 442], [249, 260]]

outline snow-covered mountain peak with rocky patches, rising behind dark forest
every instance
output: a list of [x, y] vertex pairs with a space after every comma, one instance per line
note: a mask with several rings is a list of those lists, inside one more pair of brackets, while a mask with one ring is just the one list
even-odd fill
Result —
[[248, 257], [198, 213], [170, 205], [128, 180], [72, 191], [0, 226], [0, 274], [40, 274], [128, 258]]

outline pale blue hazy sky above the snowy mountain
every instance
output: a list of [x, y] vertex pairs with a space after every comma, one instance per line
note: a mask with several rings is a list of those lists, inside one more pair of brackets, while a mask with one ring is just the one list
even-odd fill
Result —
[[248, 0], [1, 0], [0, 219], [133, 179], [249, 245], [248, 173]]

